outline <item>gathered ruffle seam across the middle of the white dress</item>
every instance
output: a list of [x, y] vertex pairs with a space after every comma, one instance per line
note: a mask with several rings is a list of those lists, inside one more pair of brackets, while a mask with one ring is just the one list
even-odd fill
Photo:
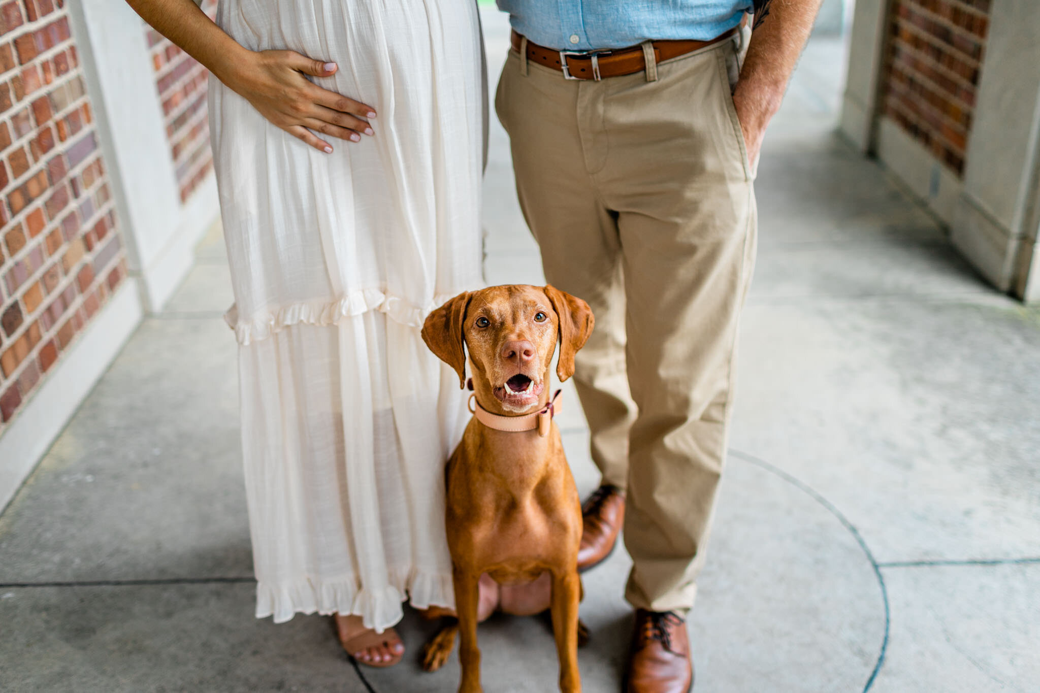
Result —
[[235, 330], [235, 338], [242, 346], [266, 339], [292, 325], [336, 325], [344, 318], [369, 311], [386, 313], [391, 320], [402, 325], [422, 327], [426, 316], [434, 309], [457, 295], [458, 293], [439, 294], [428, 304], [416, 305], [379, 289], [361, 289], [336, 301], [290, 303], [257, 314], [252, 319], [241, 318], [238, 305], [232, 304], [224, 314], [224, 320]]

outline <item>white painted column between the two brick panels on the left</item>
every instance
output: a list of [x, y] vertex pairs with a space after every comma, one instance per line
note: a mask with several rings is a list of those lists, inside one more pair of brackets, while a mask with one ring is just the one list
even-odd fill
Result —
[[218, 214], [216, 185], [211, 176], [181, 205], [141, 19], [123, 0], [70, 6], [130, 272], [155, 312], [190, 269], [196, 242]]

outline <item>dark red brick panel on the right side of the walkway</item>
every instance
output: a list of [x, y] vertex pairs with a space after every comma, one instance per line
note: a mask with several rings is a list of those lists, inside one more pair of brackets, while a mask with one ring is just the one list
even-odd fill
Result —
[[883, 112], [958, 174], [971, 131], [990, 0], [893, 0]]

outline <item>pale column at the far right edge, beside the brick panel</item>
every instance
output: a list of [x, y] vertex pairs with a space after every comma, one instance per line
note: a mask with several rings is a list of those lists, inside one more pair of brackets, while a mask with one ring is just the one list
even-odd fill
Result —
[[954, 244], [1002, 291], [1040, 300], [1040, 5], [1002, 0], [989, 36], [968, 140]]

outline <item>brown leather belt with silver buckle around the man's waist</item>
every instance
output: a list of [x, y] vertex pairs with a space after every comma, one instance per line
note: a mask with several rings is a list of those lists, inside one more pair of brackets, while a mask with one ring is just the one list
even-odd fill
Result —
[[[744, 25], [744, 22], [740, 22]], [[739, 27], [734, 27], [711, 41], [655, 41], [653, 42], [654, 61], [661, 62], [692, 53], [712, 44], [718, 44], [734, 35]], [[523, 36], [513, 32], [513, 50], [520, 52]], [[634, 75], [646, 70], [643, 46], [616, 48], [603, 51], [554, 51], [538, 44], [527, 42], [527, 59], [556, 72], [564, 73], [566, 79], [592, 79], [597, 82], [605, 77], [621, 77]]]

